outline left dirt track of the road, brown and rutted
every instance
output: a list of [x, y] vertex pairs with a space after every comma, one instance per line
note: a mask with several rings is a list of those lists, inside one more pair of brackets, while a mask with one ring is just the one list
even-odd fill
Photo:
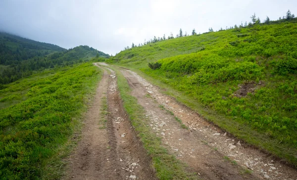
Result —
[[[123, 110], [116, 75], [112, 70], [111, 75], [106, 70], [103, 72], [93, 105], [84, 119], [82, 138], [70, 156], [65, 179], [155, 180], [150, 158]], [[109, 112], [106, 128], [99, 124], [101, 99], [104, 96]]]

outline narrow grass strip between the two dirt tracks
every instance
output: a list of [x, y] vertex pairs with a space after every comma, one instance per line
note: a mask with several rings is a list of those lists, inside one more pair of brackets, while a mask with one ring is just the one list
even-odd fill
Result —
[[188, 173], [185, 165], [175, 156], [170, 155], [166, 148], [161, 145], [161, 139], [151, 132], [149, 120], [145, 116], [145, 110], [137, 103], [137, 99], [131, 95], [131, 89], [127, 80], [120, 71], [116, 70], [118, 88], [123, 100], [124, 108], [129, 115], [131, 123], [152, 158], [152, 164], [156, 170], [156, 176], [160, 180], [194, 180], [197, 177]]

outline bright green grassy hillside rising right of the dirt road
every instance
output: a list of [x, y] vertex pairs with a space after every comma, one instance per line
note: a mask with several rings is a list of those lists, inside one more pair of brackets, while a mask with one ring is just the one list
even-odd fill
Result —
[[151, 43], [108, 61], [142, 71], [206, 119], [297, 166], [296, 19]]

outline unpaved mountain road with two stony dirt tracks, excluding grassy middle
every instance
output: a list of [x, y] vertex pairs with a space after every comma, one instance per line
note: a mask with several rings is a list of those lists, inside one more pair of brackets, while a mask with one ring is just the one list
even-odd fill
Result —
[[[82, 137], [70, 157], [71, 180], [156, 180], [151, 159], [126, 115], [117, 91], [117, 75], [105, 63], [93, 105], [86, 113]], [[111, 66], [112, 68], [118, 68]], [[239, 142], [175, 99], [160, 93], [137, 73], [118, 68], [144, 107], [151, 131], [162, 146], [203, 180], [297, 180], [297, 170]], [[107, 99], [102, 128], [102, 98]], [[168, 113], [168, 110], [174, 115]], [[178, 117], [189, 129], [181, 127]]]

